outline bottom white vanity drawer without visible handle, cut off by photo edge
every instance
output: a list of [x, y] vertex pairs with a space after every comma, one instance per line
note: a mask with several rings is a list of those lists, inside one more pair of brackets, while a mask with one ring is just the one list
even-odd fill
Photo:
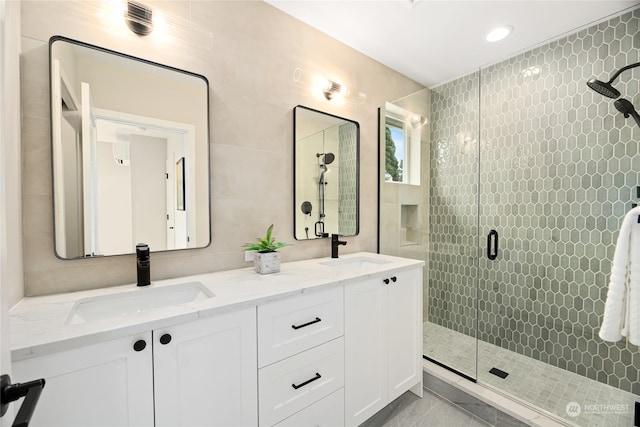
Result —
[[331, 393], [302, 411], [280, 421], [274, 427], [344, 426], [344, 389]]

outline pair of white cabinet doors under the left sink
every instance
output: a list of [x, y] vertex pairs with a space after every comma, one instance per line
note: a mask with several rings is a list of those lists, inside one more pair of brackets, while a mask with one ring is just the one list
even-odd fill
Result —
[[21, 360], [14, 381], [46, 379], [36, 427], [255, 426], [255, 313], [250, 307]]

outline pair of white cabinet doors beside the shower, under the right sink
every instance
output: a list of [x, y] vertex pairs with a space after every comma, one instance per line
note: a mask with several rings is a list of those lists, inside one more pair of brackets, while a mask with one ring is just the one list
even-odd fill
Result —
[[345, 285], [345, 424], [422, 390], [422, 267]]

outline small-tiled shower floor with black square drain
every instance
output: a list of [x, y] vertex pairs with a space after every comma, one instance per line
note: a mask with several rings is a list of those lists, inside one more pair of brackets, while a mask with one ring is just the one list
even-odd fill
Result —
[[[556, 368], [431, 322], [424, 324], [424, 354], [484, 385], [491, 386], [562, 419], [588, 427], [633, 425], [640, 396]], [[502, 379], [489, 373], [496, 367], [509, 373]], [[569, 416], [568, 408], [576, 409]]]

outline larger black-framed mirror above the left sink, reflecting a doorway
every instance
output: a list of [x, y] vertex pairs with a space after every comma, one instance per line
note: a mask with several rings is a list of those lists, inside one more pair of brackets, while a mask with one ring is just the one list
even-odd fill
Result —
[[49, 58], [56, 255], [207, 246], [207, 79], [60, 36]]

